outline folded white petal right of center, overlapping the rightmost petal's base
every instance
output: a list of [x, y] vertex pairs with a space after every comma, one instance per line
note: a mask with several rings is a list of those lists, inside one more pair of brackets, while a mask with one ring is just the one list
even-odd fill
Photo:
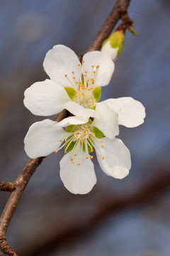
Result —
[[97, 103], [96, 112], [100, 118], [94, 118], [92, 125], [100, 129], [106, 137], [113, 139], [119, 134], [118, 114], [106, 102]]

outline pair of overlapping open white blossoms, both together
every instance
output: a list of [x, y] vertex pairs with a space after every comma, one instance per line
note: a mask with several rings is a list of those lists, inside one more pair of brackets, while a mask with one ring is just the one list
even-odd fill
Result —
[[116, 136], [120, 124], [142, 124], [145, 107], [132, 97], [98, 102], [101, 87], [108, 85], [115, 68], [110, 55], [91, 51], [80, 63], [73, 50], [57, 45], [47, 52], [43, 66], [50, 79], [31, 85], [25, 91], [24, 105], [40, 116], [64, 109], [70, 116], [61, 122], [45, 119], [32, 124], [24, 140], [28, 156], [47, 156], [64, 149], [60, 177], [72, 193], [88, 193], [94, 187], [94, 151], [108, 176], [127, 176], [130, 151]]

